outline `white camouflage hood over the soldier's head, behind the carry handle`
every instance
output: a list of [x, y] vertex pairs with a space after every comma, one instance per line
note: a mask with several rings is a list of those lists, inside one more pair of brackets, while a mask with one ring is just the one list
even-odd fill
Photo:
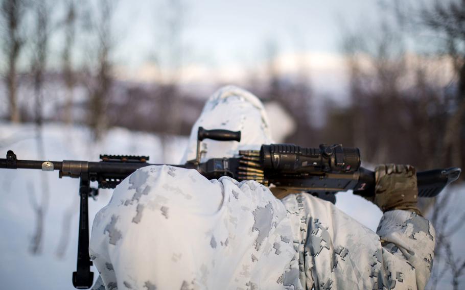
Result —
[[200, 117], [192, 127], [189, 145], [181, 164], [195, 159], [197, 131], [225, 129], [241, 131], [241, 141], [215, 141], [201, 143], [201, 162], [211, 158], [233, 157], [239, 150], [259, 150], [262, 144], [272, 143], [268, 117], [257, 96], [236, 86], [225, 86], [213, 93], [203, 107]]

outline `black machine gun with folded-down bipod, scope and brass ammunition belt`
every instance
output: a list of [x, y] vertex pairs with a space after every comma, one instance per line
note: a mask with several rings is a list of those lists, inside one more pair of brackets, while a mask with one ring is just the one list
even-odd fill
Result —
[[[341, 144], [319, 148], [304, 148], [294, 144], [262, 145], [260, 150], [239, 151], [233, 158], [212, 158], [201, 161], [201, 142], [204, 139], [240, 141], [241, 132], [205, 130], [199, 128], [196, 159], [185, 164], [172, 165], [197, 170], [208, 179], [230, 176], [239, 181], [255, 180], [270, 189], [277, 197], [292, 192], [307, 191], [313, 195], [335, 194], [354, 190], [364, 197], [375, 194], [375, 173], [360, 166], [358, 148], [343, 148]], [[97, 181], [99, 188], [115, 188], [138, 168], [149, 165], [148, 156], [100, 155], [100, 162], [88, 161], [38, 161], [18, 160], [13, 151], [0, 159], [0, 168], [28, 168], [59, 172], [59, 177], [79, 178], [80, 218], [77, 270], [73, 272], [76, 288], [90, 288], [94, 273], [90, 271], [89, 257], [89, 197], [98, 195], [98, 188], [90, 182]], [[436, 169], [417, 173], [418, 196], [435, 197], [460, 175], [460, 168]]]

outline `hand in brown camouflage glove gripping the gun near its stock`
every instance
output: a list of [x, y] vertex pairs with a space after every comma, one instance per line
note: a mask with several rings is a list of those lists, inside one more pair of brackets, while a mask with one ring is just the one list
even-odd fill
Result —
[[375, 196], [371, 202], [383, 212], [402, 209], [416, 212], [418, 187], [416, 170], [411, 165], [381, 164], [375, 168]]

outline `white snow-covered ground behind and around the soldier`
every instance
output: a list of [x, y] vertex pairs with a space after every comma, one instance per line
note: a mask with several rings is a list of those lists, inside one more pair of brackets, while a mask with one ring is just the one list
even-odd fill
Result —
[[[187, 144], [185, 137], [169, 138], [168, 156], [163, 158], [160, 139], [152, 134], [115, 128], [109, 130], [101, 142], [93, 143], [87, 128], [58, 124], [45, 125], [43, 139], [44, 156], [38, 156], [33, 125], [0, 123], [0, 156], [5, 158], [7, 150], [11, 149], [18, 159], [98, 161], [99, 154], [107, 153], [149, 155], [151, 163], [173, 164], [179, 162]], [[50, 197], [45, 202], [41, 190], [44, 178], [50, 188]], [[0, 170], [0, 288], [74, 289], [71, 277], [76, 270], [78, 183], [78, 179], [58, 179], [57, 172]], [[454, 195], [456, 202], [452, 206], [460, 212], [459, 206], [465, 205], [465, 186], [455, 187], [448, 193]], [[100, 190], [97, 201], [89, 200], [90, 223], [110, 196], [111, 190]], [[381, 218], [381, 211], [376, 206], [350, 192], [341, 192], [337, 198], [340, 209], [376, 230]], [[42, 250], [36, 255], [30, 252], [31, 238], [36, 230], [34, 204], [42, 204], [45, 208]], [[72, 217], [71, 223], [65, 222], [66, 216]], [[454, 250], [465, 249], [460, 243], [463, 238], [465, 231], [462, 228], [456, 234]], [[97, 273], [96, 269], [93, 271]], [[443, 285], [448, 283], [444, 281]]]

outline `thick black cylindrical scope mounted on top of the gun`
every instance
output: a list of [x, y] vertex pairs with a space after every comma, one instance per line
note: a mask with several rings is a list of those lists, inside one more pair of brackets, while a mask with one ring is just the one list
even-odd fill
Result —
[[263, 145], [260, 162], [265, 170], [281, 173], [355, 172], [360, 168], [360, 150], [341, 144], [305, 148], [294, 144]]

